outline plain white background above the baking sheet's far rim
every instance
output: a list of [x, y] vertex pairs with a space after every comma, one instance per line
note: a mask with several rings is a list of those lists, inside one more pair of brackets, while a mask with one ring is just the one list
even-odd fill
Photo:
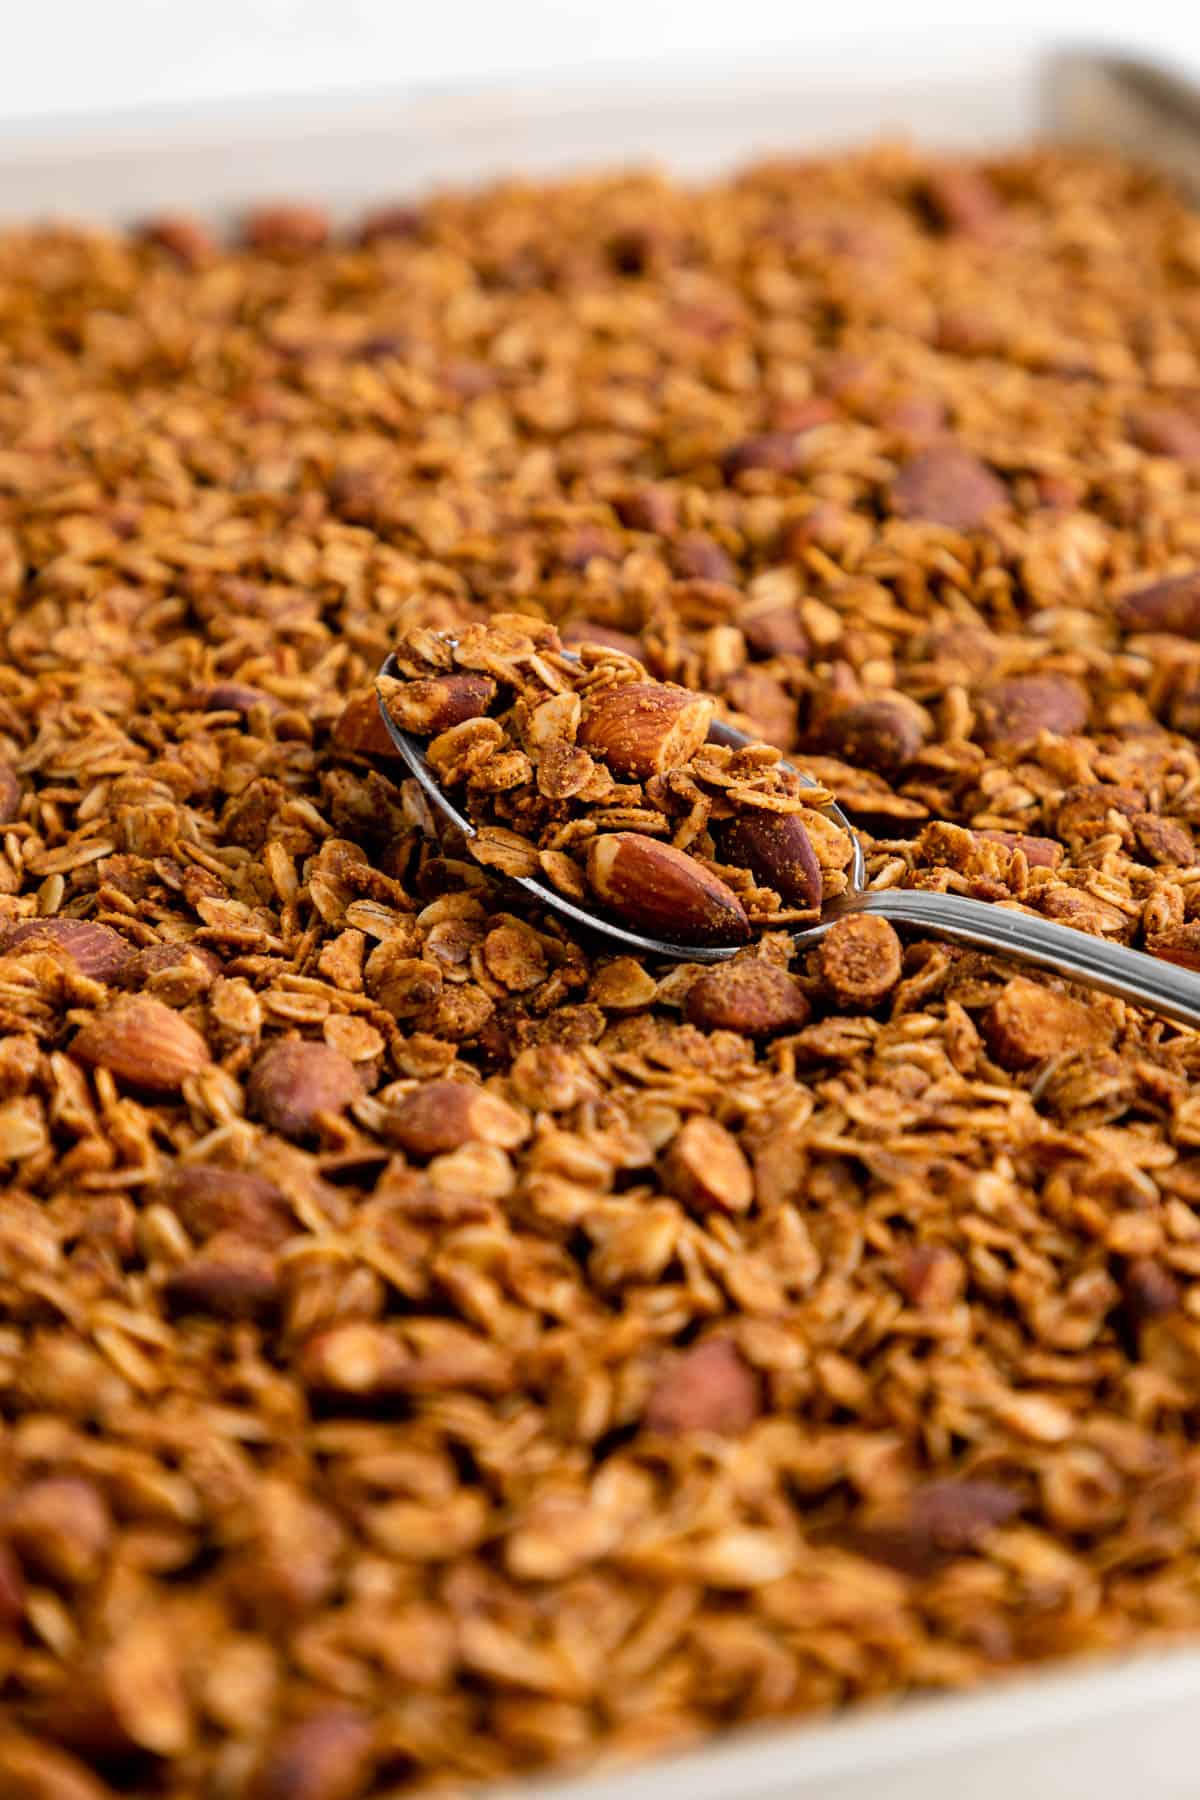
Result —
[[945, 70], [1063, 40], [1200, 72], [1195, 0], [0, 0], [0, 126], [639, 67]]

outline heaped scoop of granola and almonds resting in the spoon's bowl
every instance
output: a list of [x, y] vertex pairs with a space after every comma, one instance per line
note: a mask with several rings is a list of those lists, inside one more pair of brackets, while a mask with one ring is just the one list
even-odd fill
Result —
[[[552, 626], [414, 632], [380, 697], [466, 803], [484, 868], [678, 945], [739, 945], [844, 893], [851, 842], [768, 743], [709, 743], [712, 700], [619, 650], [563, 655]], [[498, 716], [497, 716], [498, 715]], [[392, 745], [389, 743], [390, 751]]]

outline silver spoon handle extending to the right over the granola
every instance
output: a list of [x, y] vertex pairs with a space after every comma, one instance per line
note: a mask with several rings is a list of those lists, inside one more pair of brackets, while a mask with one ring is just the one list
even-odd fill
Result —
[[932, 938], [995, 950], [1034, 968], [1083, 981], [1101, 994], [1115, 994], [1133, 1006], [1200, 1028], [1200, 976], [1175, 963], [1162, 963], [1144, 950], [1092, 938], [1070, 925], [1054, 925], [1033, 913], [1013, 913], [986, 900], [923, 893], [910, 887], [873, 887], [831, 900], [819, 925], [799, 931], [801, 943], [817, 943], [829, 925], [851, 913], [874, 913], [894, 925], [912, 925]]

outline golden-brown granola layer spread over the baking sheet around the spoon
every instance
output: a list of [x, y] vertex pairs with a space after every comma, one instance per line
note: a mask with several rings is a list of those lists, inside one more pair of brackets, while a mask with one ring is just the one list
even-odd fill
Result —
[[599, 644], [869, 880], [1195, 963], [1198, 391], [1200, 221], [1060, 151], [0, 238], [0, 1793], [461, 1791], [1200, 1633], [1196, 1037], [865, 916], [599, 952], [372, 689]]

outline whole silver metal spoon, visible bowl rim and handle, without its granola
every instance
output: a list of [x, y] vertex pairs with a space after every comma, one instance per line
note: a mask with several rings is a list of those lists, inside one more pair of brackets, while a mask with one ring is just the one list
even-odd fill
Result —
[[[403, 680], [394, 657], [387, 659], [380, 675]], [[408, 765], [430, 806], [450, 824], [455, 824], [464, 837], [475, 837], [471, 821], [459, 812], [430, 770], [419, 740], [401, 731], [381, 698], [380, 713], [383, 715], [389, 738]], [[738, 751], [756, 740], [718, 720], [709, 731], [709, 742]], [[781, 763], [779, 767], [793, 769], [792, 763]], [[793, 772], [806, 787], [817, 787], [802, 769], [793, 769]], [[910, 925], [930, 938], [945, 938], [950, 943], [970, 943], [977, 950], [1011, 956], [1013, 961], [1029, 963], [1033, 968], [1049, 968], [1051, 974], [1083, 981], [1090, 988], [1099, 988], [1101, 994], [1115, 994], [1117, 999], [1130, 1001], [1133, 1006], [1148, 1006], [1166, 1019], [1175, 1019], [1178, 1024], [1200, 1026], [1200, 976], [1187, 968], [1178, 968], [1175, 963], [1160, 963], [1157, 958], [1146, 956], [1144, 950], [1130, 950], [1123, 943], [1108, 943], [1105, 938], [1092, 938], [1083, 931], [1074, 931], [1070, 925], [1054, 925], [1051, 920], [1036, 918], [1031, 913], [1018, 913], [997, 902], [964, 900], [961, 895], [925, 893], [907, 887], [867, 887], [867, 864], [853, 824], [837, 803], [829, 803], [820, 810], [849, 837], [849, 889], [838, 895], [837, 900], [829, 900], [813, 925], [804, 925], [792, 932], [802, 949], [820, 943], [837, 920], [849, 918], [855, 913], [874, 913], [876, 918], [887, 918], [894, 925]], [[569, 918], [574, 925], [608, 938], [612, 943], [619, 943], [624, 950], [666, 956], [682, 963], [723, 963], [738, 949], [736, 945], [727, 949], [700, 943], [666, 943], [662, 938], [646, 938], [642, 932], [628, 931], [624, 925], [613, 925], [601, 914], [585, 913], [583, 907], [567, 900], [549, 882], [540, 882], [531, 875], [509, 875], [507, 880], [515, 882], [551, 913], [558, 913], [560, 918]]]

